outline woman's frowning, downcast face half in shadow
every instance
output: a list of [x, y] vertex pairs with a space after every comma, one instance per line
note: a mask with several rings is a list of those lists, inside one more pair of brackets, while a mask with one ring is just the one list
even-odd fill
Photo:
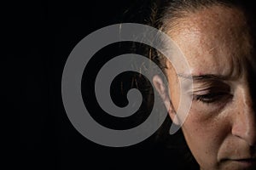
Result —
[[[212, 6], [180, 20], [169, 32], [194, 77], [188, 91], [193, 92], [192, 106], [182, 130], [201, 169], [256, 168], [256, 55], [245, 20], [237, 8]], [[175, 80], [186, 79], [186, 72], [166, 72], [177, 109]]]

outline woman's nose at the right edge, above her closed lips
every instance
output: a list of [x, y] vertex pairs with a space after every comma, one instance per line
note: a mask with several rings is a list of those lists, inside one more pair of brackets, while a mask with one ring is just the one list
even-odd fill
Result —
[[256, 145], [256, 116], [253, 99], [247, 90], [241, 88], [236, 96], [236, 112], [233, 114], [232, 134], [247, 141], [251, 146]]

